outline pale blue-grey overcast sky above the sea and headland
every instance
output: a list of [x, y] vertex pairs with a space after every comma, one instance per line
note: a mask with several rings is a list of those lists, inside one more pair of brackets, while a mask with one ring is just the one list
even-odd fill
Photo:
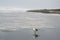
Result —
[[60, 0], [0, 0], [0, 7], [22, 9], [60, 8]]

